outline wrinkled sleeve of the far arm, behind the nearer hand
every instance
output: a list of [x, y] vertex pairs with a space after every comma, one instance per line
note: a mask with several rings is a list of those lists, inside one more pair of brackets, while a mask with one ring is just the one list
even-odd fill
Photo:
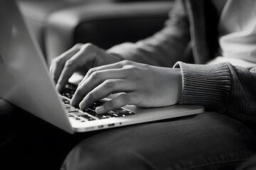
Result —
[[107, 52], [123, 60], [173, 67], [177, 61], [188, 62], [184, 54], [190, 41], [189, 23], [181, 0], [174, 3], [166, 26], [158, 33], [138, 42], [124, 42]]

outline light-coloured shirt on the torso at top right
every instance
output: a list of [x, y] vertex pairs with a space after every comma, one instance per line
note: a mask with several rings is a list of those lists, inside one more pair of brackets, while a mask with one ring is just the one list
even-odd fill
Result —
[[256, 64], [256, 1], [222, 0], [218, 33], [220, 49], [210, 64], [230, 62], [245, 68]]

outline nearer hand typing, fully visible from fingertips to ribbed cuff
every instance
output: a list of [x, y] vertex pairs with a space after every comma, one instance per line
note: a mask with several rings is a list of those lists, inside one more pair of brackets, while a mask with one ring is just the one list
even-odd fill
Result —
[[126, 105], [171, 106], [181, 96], [181, 71], [122, 61], [89, 70], [71, 99], [73, 106], [85, 109], [110, 94], [124, 92], [96, 108], [107, 113]]

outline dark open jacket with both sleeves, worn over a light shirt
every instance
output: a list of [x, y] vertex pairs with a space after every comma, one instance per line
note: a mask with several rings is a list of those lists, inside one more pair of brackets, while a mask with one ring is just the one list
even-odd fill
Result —
[[249, 70], [228, 62], [206, 64], [218, 47], [218, 13], [213, 4], [177, 0], [158, 33], [116, 45], [107, 52], [124, 60], [181, 68], [179, 104], [198, 104], [256, 125], [256, 67]]

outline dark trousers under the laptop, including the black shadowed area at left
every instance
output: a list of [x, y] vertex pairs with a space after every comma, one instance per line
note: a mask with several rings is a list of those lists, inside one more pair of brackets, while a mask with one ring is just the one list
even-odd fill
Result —
[[227, 170], [256, 154], [255, 135], [218, 113], [69, 135], [14, 106], [1, 111], [1, 169]]

